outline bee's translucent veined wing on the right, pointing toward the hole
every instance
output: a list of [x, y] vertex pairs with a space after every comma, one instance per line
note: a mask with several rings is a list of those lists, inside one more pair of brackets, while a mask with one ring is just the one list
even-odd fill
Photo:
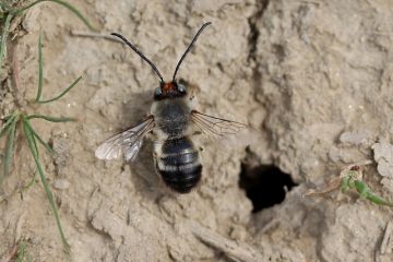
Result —
[[245, 123], [207, 116], [196, 110], [191, 111], [191, 120], [202, 133], [211, 138], [236, 134], [247, 128]]

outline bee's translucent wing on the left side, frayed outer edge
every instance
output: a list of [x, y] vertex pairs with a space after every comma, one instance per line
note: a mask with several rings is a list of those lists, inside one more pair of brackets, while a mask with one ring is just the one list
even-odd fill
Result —
[[124, 155], [126, 160], [135, 157], [142, 147], [143, 138], [154, 128], [154, 118], [148, 117], [145, 121], [124, 132], [118, 133], [100, 144], [95, 151], [99, 159], [115, 159]]

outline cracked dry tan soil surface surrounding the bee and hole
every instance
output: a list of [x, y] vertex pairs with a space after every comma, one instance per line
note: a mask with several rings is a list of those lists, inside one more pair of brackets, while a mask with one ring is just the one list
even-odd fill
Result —
[[[393, 261], [389, 207], [356, 194], [302, 198], [343, 167], [371, 159], [365, 181], [393, 199], [391, 1], [70, 2], [102, 34], [119, 32], [135, 43], [166, 79], [211, 21], [179, 76], [195, 90], [199, 110], [250, 127], [236, 138], [198, 140], [203, 179], [186, 195], [155, 175], [150, 143], [132, 165], [96, 159], [100, 142], [146, 116], [157, 78], [117, 41], [72, 36], [87, 29], [66, 9], [44, 3], [29, 11], [13, 31], [0, 73], [1, 116], [21, 94], [35, 96], [41, 33], [44, 96], [83, 75], [58, 103], [27, 108], [79, 119], [34, 121], [59, 153], [41, 158], [72, 261]], [[8, 81], [13, 53], [19, 91]], [[251, 213], [239, 188], [240, 164], [250, 157], [299, 186], [283, 203]], [[33, 261], [66, 261], [41, 184], [21, 199], [21, 183], [34, 172], [22, 140], [1, 191], [0, 255], [22, 237]]]

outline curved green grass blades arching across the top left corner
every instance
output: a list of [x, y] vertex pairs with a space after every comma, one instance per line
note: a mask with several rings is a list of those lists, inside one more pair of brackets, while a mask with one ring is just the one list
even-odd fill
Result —
[[72, 13], [74, 13], [79, 19], [83, 21], [83, 23], [92, 31], [95, 31], [92, 24], [82, 15], [82, 13], [71, 5], [70, 3], [62, 0], [36, 0], [31, 3], [27, 3], [22, 7], [12, 7], [11, 4], [7, 4], [5, 2], [0, 2], [0, 21], [2, 24], [2, 33], [0, 38], [0, 67], [2, 66], [3, 58], [5, 56], [7, 50], [7, 39], [10, 33], [10, 25], [13, 17], [23, 14], [26, 10], [33, 8], [34, 5], [40, 2], [55, 2], [67, 9], [69, 9]]

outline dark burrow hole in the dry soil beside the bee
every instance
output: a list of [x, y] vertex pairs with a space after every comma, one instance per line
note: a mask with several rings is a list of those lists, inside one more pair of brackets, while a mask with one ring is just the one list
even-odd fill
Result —
[[255, 213], [283, 202], [286, 190], [297, 184], [273, 165], [249, 167], [241, 164], [239, 186], [246, 190], [247, 198], [252, 201], [252, 213]]

